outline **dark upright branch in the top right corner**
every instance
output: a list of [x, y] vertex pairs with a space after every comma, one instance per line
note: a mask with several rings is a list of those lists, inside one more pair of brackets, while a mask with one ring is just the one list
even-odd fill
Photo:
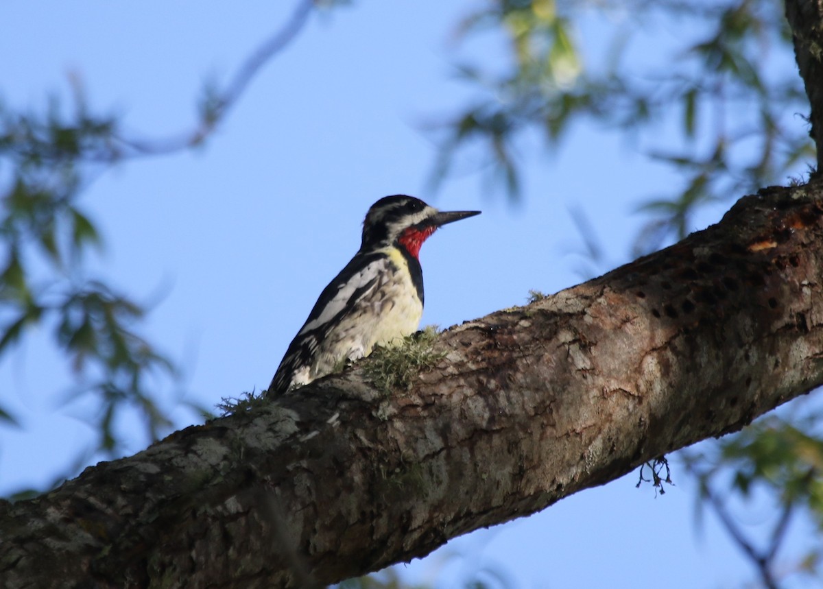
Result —
[[792, 30], [794, 55], [811, 103], [809, 136], [817, 148], [817, 170], [823, 170], [823, 2], [786, 0], [786, 18]]

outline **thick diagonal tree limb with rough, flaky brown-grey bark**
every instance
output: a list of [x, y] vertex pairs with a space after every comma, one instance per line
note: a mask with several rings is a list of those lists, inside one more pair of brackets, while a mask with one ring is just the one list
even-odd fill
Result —
[[[539, 267], [539, 261], [533, 262]], [[823, 383], [823, 185], [0, 504], [3, 587], [305, 587], [427, 554]]]

